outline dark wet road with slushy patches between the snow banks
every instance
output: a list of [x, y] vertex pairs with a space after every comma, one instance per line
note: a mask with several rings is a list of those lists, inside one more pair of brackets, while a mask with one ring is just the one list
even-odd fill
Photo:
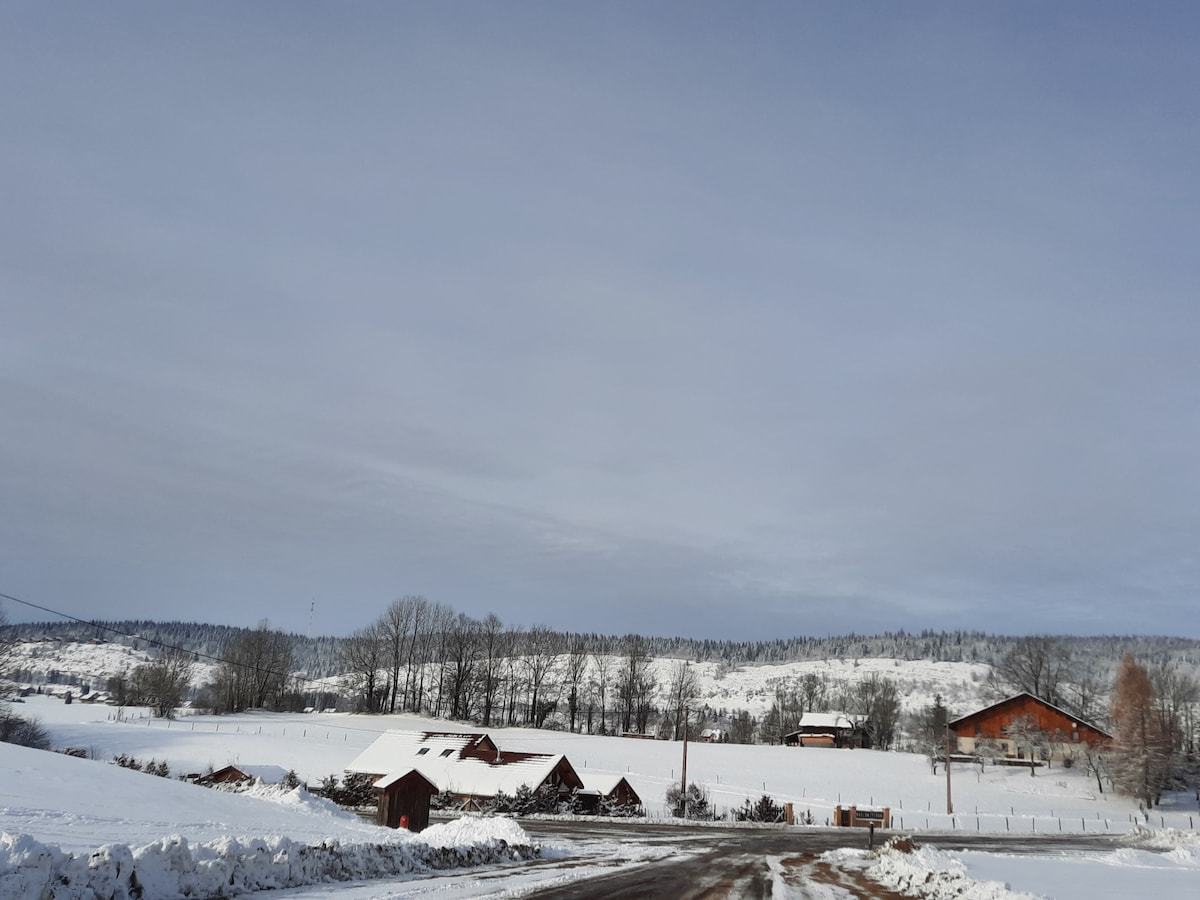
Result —
[[[523, 821], [522, 826], [530, 835], [546, 842], [619, 840], [678, 848], [677, 853], [666, 858], [643, 865], [616, 868], [596, 877], [532, 893], [530, 898], [770, 898], [781, 893], [776, 889], [780, 884], [792, 895], [799, 896], [829, 896], [829, 887], [840, 888], [841, 895], [871, 900], [895, 900], [900, 896], [864, 880], [856, 870], [818, 860], [820, 854], [828, 850], [847, 846], [866, 848], [869, 834], [860, 829], [634, 827], [535, 820]], [[886, 840], [884, 834], [876, 834], [876, 841], [882, 840]], [[1121, 846], [1118, 839], [1099, 834], [1013, 836], [953, 833], [925, 834], [918, 840], [942, 850], [1018, 854], [1102, 852]]]

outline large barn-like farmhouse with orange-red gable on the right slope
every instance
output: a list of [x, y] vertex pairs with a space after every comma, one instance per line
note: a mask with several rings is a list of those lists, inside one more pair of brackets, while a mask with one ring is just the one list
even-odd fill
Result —
[[1103, 728], [1028, 692], [955, 719], [948, 727], [960, 754], [979, 754], [990, 745], [1010, 760], [1032, 758], [1034, 745], [1043, 758], [1074, 760], [1085, 748], [1112, 739]]

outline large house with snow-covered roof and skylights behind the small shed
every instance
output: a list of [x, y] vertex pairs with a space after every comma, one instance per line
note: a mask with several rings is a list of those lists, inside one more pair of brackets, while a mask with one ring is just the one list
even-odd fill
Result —
[[482, 733], [385, 731], [346, 767], [378, 779], [410, 769], [452, 793], [464, 809], [478, 809], [502, 792], [516, 794], [521, 786], [551, 787], [563, 799], [583, 787], [562, 754], [504, 751]]

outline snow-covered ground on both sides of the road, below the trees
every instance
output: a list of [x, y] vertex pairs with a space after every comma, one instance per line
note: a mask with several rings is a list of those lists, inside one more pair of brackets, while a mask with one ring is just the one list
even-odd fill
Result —
[[[28, 892], [38, 877], [44, 883], [64, 874], [71, 884], [58, 883], [58, 900], [92, 896], [82, 887], [86, 882], [82, 874], [92, 869], [89, 877], [116, 892], [98, 895], [118, 898], [133, 895], [127, 881], [133, 870], [143, 887], [148, 881], [154, 884], [145, 896], [162, 898], [217, 895], [217, 883], [227, 893], [293, 886], [282, 894], [289, 898], [364, 900], [434, 889], [451, 899], [517, 896], [598, 871], [589, 869], [589, 860], [599, 866], [654, 856], [629, 846], [536, 848], [505, 820], [468, 820], [414, 836], [376, 828], [304, 793], [224, 794], [103, 762], [116, 754], [152, 757], [167, 761], [174, 774], [227, 763], [277, 764], [316, 782], [341, 773], [385, 728], [445, 730], [444, 721], [257, 713], [168, 722], [144, 710], [126, 709], [119, 718], [112, 707], [37, 696], [16, 709], [41, 719], [56, 746], [84, 748], [95, 758], [0, 745], [0, 832], [7, 835], [0, 840], [0, 898], [5, 899], [36, 896], [37, 892]], [[679, 744], [524, 728], [490, 733], [505, 749], [565, 752], [584, 779], [589, 772], [625, 774], [648, 812], [660, 820], [666, 816], [664, 793], [679, 775]], [[732, 744], [689, 744], [688, 774], [707, 787], [719, 810], [738, 806], [746, 797], [757, 799], [764, 791], [776, 802], [792, 802], [800, 814], [811, 812], [818, 824], [839, 803], [890, 806], [894, 823], [918, 832], [925, 846], [916, 854], [870, 858], [847, 852], [838, 864], [907, 886], [914, 895], [998, 899], [1025, 892], [1058, 900], [1200, 895], [1195, 836], [1200, 812], [1189, 796], [1170, 798], [1146, 822], [1130, 802], [1100, 793], [1094, 780], [1076, 769], [1043, 769], [1031, 778], [1024, 769], [980, 773], [962, 767], [954, 773], [956, 815], [950, 817], [944, 812], [944, 778], [932, 775], [920, 756]], [[1138, 822], [1148, 824], [1152, 834], [1132, 835], [1128, 848], [1108, 854], [1031, 858], [936, 850], [936, 833], [949, 828], [1130, 833]], [[1150, 840], [1168, 852], [1151, 852]], [[328, 852], [334, 841], [337, 852]], [[326, 851], [312, 851], [323, 844]], [[514, 859], [538, 853], [552, 862], [529, 866]], [[563, 853], [586, 857], [586, 864], [556, 868], [553, 859]], [[431, 881], [436, 866], [463, 863], [473, 868]], [[402, 875], [398, 881], [372, 880], [383, 871]], [[350, 881], [322, 883], [329, 877]], [[79, 893], [70, 893], [72, 884]]]

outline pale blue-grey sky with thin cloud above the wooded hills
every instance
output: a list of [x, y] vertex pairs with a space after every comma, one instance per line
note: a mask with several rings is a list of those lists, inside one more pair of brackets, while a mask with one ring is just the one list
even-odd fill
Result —
[[5, 4], [0, 592], [1200, 637], [1196, 46], [1183, 2]]

